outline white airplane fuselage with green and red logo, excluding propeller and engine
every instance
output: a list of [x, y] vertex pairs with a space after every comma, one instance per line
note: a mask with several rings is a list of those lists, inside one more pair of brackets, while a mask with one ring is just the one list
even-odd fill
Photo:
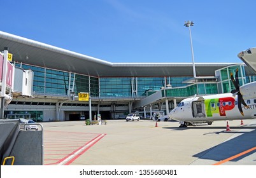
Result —
[[243, 115], [238, 109], [238, 97], [232, 93], [206, 95], [184, 99], [169, 116], [178, 121], [246, 120], [256, 118], [256, 99], [245, 100]]

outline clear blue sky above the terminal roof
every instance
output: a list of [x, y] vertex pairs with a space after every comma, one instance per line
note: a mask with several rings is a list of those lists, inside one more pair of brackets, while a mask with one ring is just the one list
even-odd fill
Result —
[[[0, 31], [108, 62], [241, 62], [256, 46], [256, 1], [1, 1]], [[4, 8], [3, 8], [4, 7]]]

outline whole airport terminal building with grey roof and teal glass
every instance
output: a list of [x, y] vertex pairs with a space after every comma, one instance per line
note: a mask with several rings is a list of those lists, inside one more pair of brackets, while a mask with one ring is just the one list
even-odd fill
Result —
[[[34, 121], [122, 118], [138, 112], [150, 117], [154, 111], [169, 113], [182, 99], [194, 95], [231, 92], [231, 72], [239, 69], [240, 85], [256, 81], [256, 74], [242, 62], [111, 63], [49, 44], [0, 31], [0, 51], [8, 48], [17, 71], [27, 71], [31, 94], [14, 91], [4, 118]], [[206, 58], [207, 61], [207, 58]], [[18, 86], [17, 86], [18, 88]], [[89, 93], [89, 101], [79, 100]]]

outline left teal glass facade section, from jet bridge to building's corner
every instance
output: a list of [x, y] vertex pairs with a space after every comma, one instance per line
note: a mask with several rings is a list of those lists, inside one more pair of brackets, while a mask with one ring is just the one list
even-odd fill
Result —
[[[20, 67], [20, 64], [16, 65]], [[79, 92], [90, 92], [93, 97], [99, 97], [99, 78], [32, 65], [23, 64], [22, 68], [31, 69], [34, 72], [33, 91], [36, 94], [68, 95], [68, 90], [73, 87], [75, 78], [76, 95]]]

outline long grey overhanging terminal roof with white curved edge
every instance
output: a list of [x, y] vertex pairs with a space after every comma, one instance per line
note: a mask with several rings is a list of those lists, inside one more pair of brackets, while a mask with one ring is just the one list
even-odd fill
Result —
[[[111, 63], [74, 51], [0, 31], [0, 50], [9, 48], [13, 61], [97, 77], [192, 76], [192, 63]], [[173, 59], [170, 59], [173, 60]], [[213, 76], [231, 63], [196, 63], [197, 76]], [[246, 69], [247, 71], [247, 69]]]

